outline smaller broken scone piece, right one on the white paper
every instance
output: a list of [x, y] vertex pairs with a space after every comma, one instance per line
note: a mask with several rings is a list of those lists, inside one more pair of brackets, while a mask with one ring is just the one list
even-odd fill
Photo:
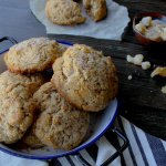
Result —
[[104, 19], [107, 14], [105, 0], [83, 0], [83, 8], [95, 22]]

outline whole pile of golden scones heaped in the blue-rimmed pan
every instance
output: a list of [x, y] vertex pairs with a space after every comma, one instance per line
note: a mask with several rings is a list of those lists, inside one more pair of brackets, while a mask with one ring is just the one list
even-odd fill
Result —
[[4, 62], [8, 71], [0, 74], [4, 144], [72, 149], [87, 132], [89, 112], [103, 110], [117, 95], [111, 58], [87, 45], [66, 49], [54, 40], [33, 38], [12, 46]]

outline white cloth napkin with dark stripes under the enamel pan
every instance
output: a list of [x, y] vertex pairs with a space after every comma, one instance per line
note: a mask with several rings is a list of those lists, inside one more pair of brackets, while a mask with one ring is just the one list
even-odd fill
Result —
[[[115, 127], [124, 133], [129, 141], [128, 147], [120, 157], [108, 166], [166, 166], [166, 142], [152, 136], [126, 118], [120, 116], [114, 123]], [[95, 144], [80, 152], [92, 166], [100, 166], [116, 151], [112, 143], [115, 141], [121, 146], [123, 141], [113, 137], [107, 131]], [[82, 166], [73, 156], [55, 158], [48, 162], [24, 159], [0, 152], [0, 166]]]

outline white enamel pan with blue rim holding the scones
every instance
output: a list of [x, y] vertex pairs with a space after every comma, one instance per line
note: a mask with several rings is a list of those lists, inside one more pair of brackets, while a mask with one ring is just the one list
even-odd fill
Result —
[[[73, 43], [65, 42], [65, 41], [58, 41], [58, 42], [64, 44], [65, 46], [73, 45]], [[0, 53], [1, 58], [3, 56], [3, 53], [6, 53], [7, 51], [8, 50]], [[30, 158], [30, 159], [52, 159], [55, 157], [62, 157], [62, 156], [75, 154], [80, 152], [81, 149], [84, 149], [87, 146], [92, 145], [102, 135], [104, 135], [106, 129], [115, 121], [115, 117], [118, 112], [120, 103], [121, 103], [120, 98], [115, 98], [103, 111], [100, 111], [97, 113], [91, 113], [91, 123], [90, 123], [90, 128], [87, 131], [87, 134], [85, 138], [83, 139], [83, 142], [72, 151], [61, 151], [61, 149], [56, 151], [56, 149], [51, 149], [48, 146], [44, 149], [28, 149], [28, 151], [27, 149], [12, 149], [8, 145], [4, 145], [4, 144], [0, 144], [0, 151], [7, 154], [13, 155], [13, 156]]]

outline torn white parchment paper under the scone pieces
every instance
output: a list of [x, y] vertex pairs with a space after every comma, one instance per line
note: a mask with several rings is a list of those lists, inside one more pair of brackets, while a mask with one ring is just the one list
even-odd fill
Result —
[[84, 11], [82, 3], [82, 15], [86, 15], [86, 21], [77, 25], [59, 25], [52, 23], [45, 15], [46, 0], [30, 0], [30, 9], [37, 19], [45, 25], [48, 34], [72, 34], [93, 37], [97, 39], [121, 40], [124, 29], [129, 22], [126, 7], [106, 0], [107, 17], [98, 22], [94, 22]]

